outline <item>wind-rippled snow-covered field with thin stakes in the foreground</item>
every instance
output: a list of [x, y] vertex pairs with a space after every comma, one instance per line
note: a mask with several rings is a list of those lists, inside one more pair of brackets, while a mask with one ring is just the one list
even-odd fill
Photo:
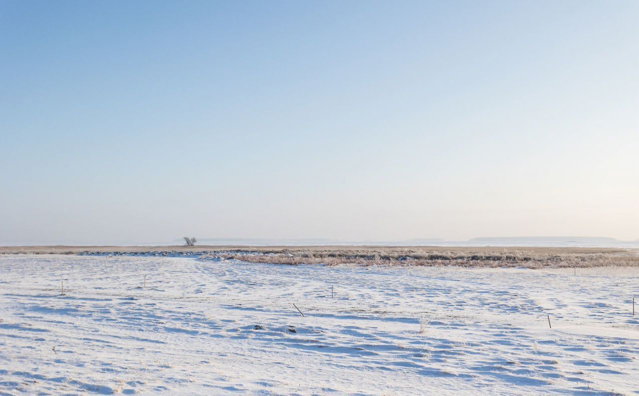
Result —
[[10, 255], [0, 394], [634, 395], [638, 294], [637, 268]]

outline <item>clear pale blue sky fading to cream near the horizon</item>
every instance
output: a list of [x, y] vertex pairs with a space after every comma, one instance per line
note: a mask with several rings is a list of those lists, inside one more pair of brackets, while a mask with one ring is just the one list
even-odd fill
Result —
[[639, 238], [639, 2], [0, 0], [0, 244]]

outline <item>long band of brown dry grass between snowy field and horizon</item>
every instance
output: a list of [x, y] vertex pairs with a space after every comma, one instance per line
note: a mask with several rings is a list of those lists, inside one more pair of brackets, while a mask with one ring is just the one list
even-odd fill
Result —
[[0, 254], [193, 252], [272, 264], [357, 264], [401, 266], [482, 266], [587, 268], [639, 266], [639, 252], [622, 248], [549, 247], [389, 247], [389, 246], [42, 246], [0, 247]]

